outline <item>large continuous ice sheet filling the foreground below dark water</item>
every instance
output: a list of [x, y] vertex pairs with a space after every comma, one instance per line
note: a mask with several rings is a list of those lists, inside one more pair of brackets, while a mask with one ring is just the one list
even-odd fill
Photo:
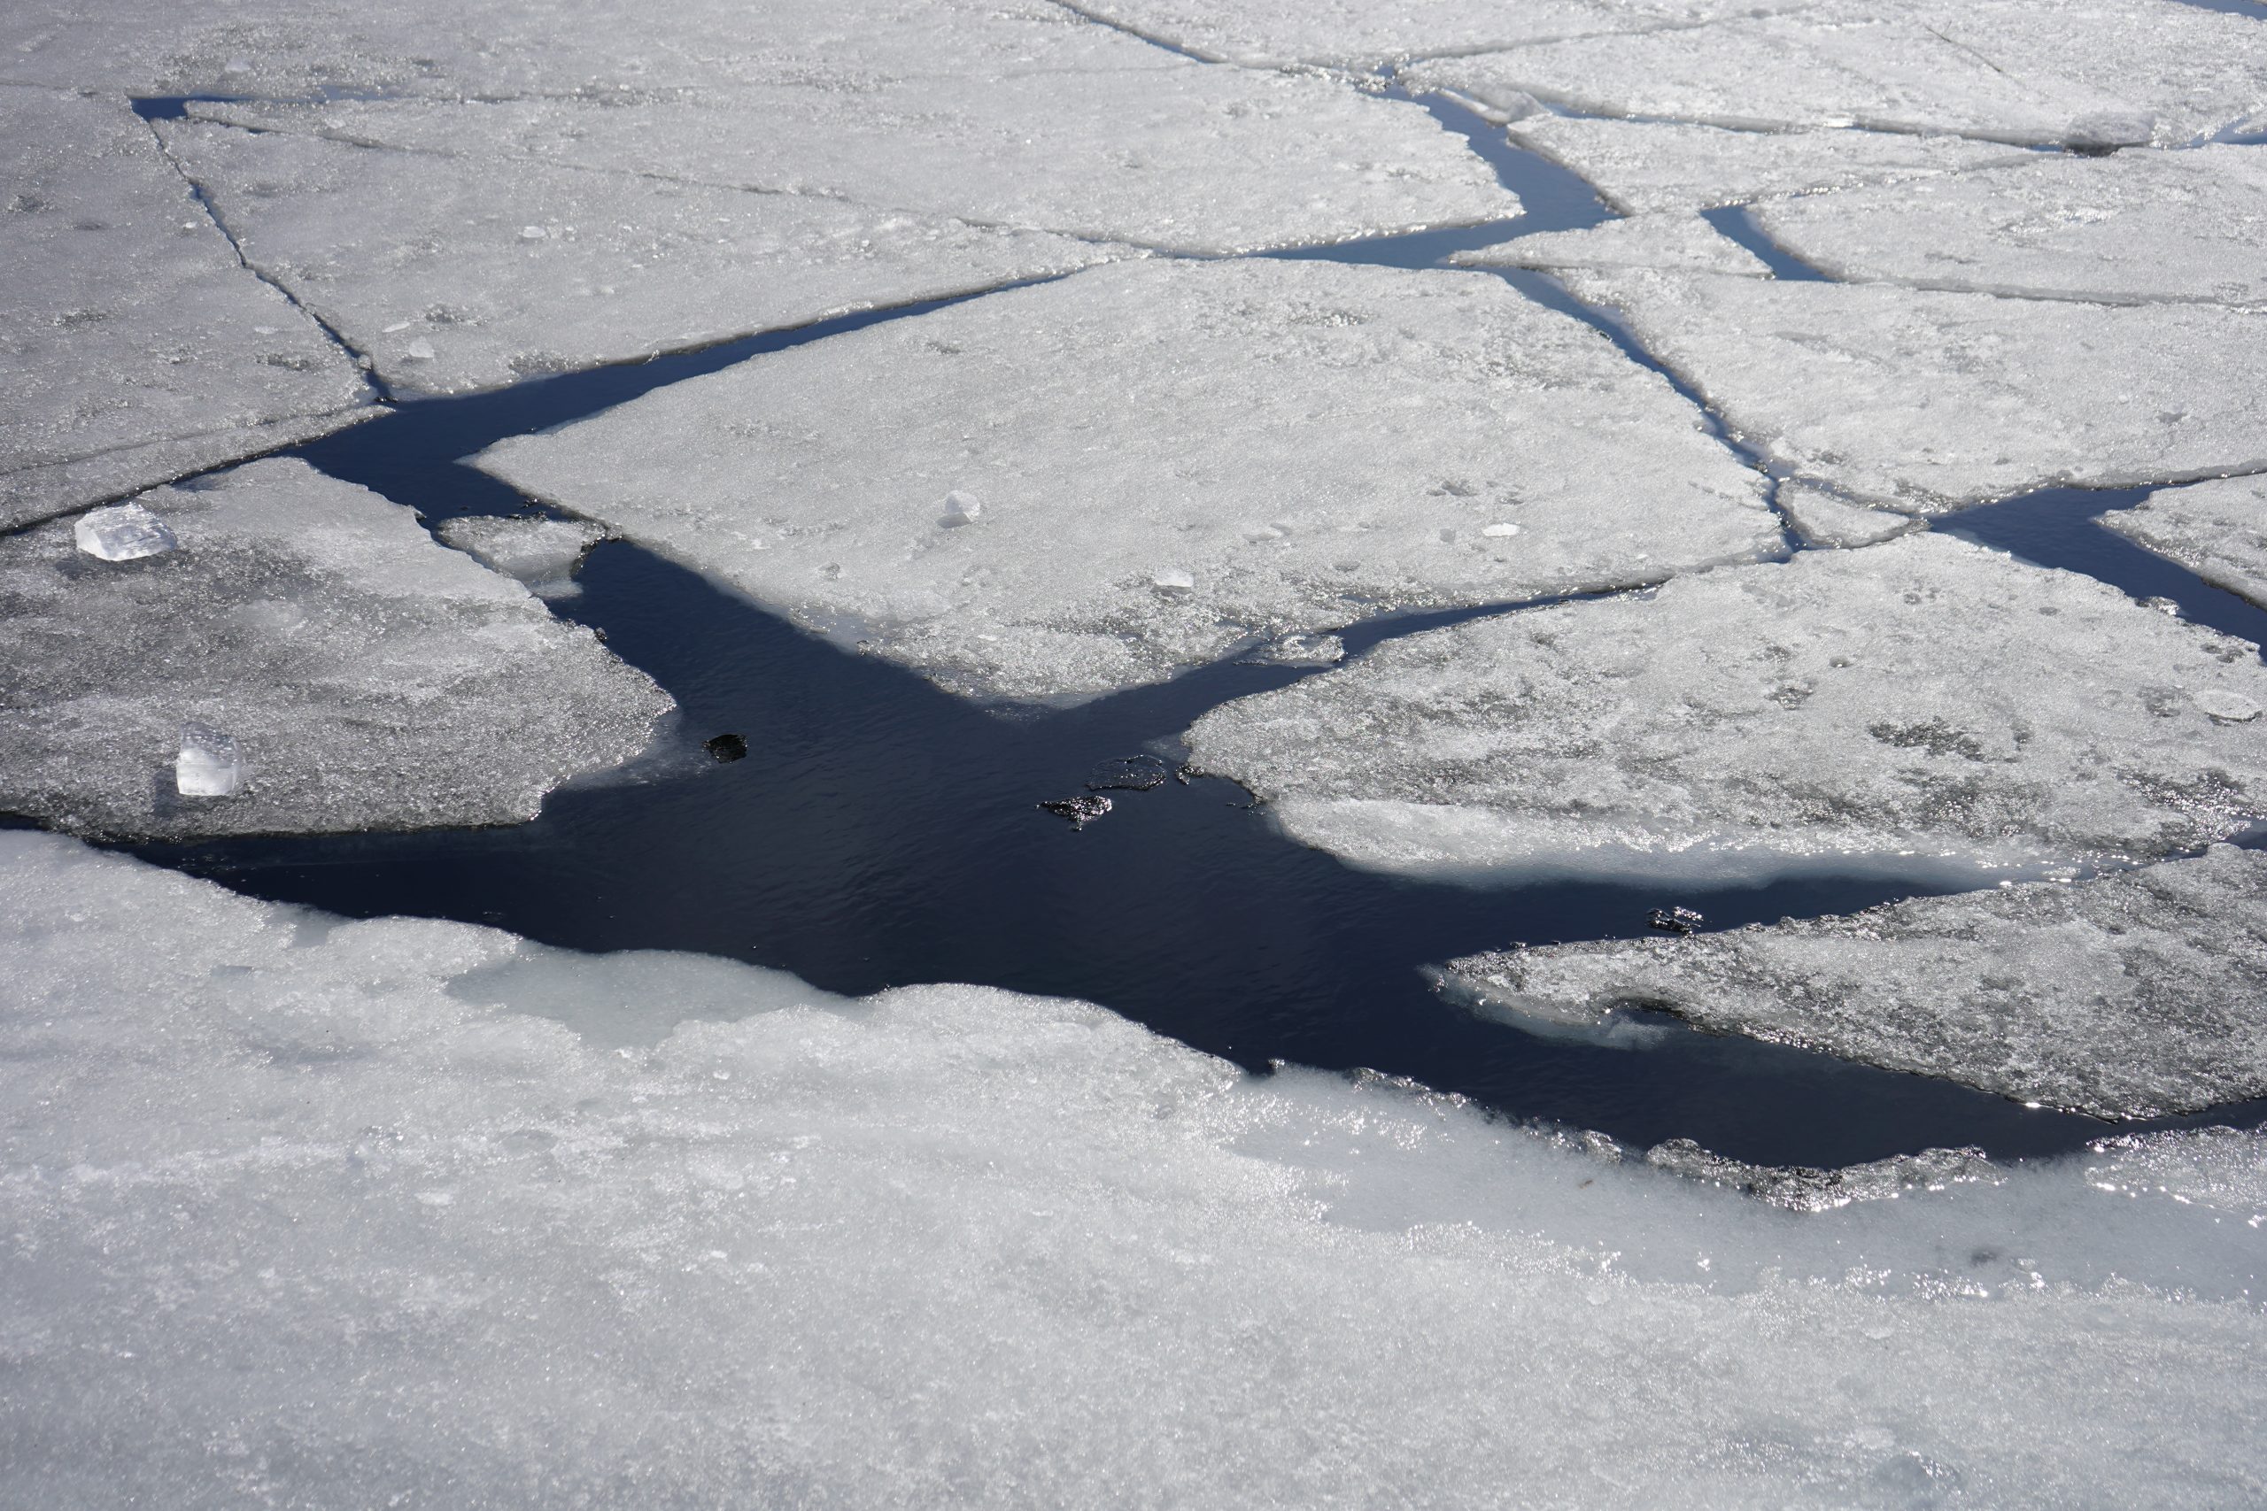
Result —
[[342, 922], [36, 834], [0, 904], [27, 1506], [2267, 1486], [2253, 1133], [1789, 1212], [1084, 1004]]

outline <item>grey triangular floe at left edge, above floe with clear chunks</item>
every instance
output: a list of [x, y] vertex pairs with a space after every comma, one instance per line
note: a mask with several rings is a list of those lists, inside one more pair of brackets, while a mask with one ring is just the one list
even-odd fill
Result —
[[376, 412], [122, 102], [0, 86], [0, 528]]

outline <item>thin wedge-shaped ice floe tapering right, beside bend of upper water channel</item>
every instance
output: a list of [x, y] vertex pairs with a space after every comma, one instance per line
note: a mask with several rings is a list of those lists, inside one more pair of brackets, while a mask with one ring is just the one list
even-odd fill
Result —
[[1512, 140], [1571, 168], [1625, 215], [1700, 211], [1775, 195], [1907, 183], [2029, 152], [1902, 131], [1727, 131], [1664, 120], [1530, 116]]

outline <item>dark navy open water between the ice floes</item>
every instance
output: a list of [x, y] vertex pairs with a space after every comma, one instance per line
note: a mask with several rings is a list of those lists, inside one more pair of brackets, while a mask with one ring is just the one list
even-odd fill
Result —
[[[145, 102], [145, 113], [168, 106], [177, 102]], [[1453, 106], [1430, 109], [1521, 195], [1526, 215], [1274, 256], [1430, 267], [1512, 233], [1612, 217], [1576, 174]], [[1741, 213], [1712, 220], [1764, 249]], [[1657, 367], [1544, 274], [1508, 276]], [[521, 496], [458, 458], [666, 383], [939, 304], [404, 403], [292, 455], [408, 503], [431, 523], [517, 514], [528, 507]], [[2136, 596], [2170, 598], [2199, 623], [2267, 639], [2267, 614], [2092, 523], [2099, 510], [2126, 507], [2145, 492], [2047, 489], [1938, 528], [2086, 571]], [[642, 779], [562, 791], [537, 822], [510, 829], [247, 838], [145, 845], [136, 854], [256, 897], [351, 917], [456, 917], [589, 951], [691, 949], [789, 970], [834, 992], [975, 981], [1081, 997], [1251, 1069], [1279, 1060], [1378, 1069], [1514, 1117], [1596, 1128], [1632, 1144], [1691, 1137], [1766, 1164], [1832, 1167], [1931, 1144], [1979, 1144], [2020, 1158], [2108, 1130], [1743, 1038], [1671, 1031], [1646, 1049], [1530, 1038], [1469, 1017], [1419, 974], [1428, 963], [1512, 940], [1639, 936], [1646, 913], [1669, 904], [1703, 911], [1709, 927], [1734, 927], [1938, 888], [1882, 874], [1718, 890], [1383, 877], [1285, 840], [1240, 788], [1217, 779], [1113, 793], [1115, 811], [1075, 831], [1036, 804], [1079, 793], [1109, 759], [1172, 754], [1174, 739], [1206, 709], [1310, 673], [1220, 664], [1077, 709], [1002, 716], [803, 634], [621, 541], [592, 553], [580, 584], [583, 594], [558, 603], [558, 612], [598, 628], [612, 650], [676, 695], [676, 761]], [[1342, 639], [1360, 652], [1469, 614], [1374, 621]], [[701, 739], [723, 732], [746, 739], [746, 759], [714, 763], [698, 754]], [[644, 1024], [653, 1035], [669, 1026], [666, 1004], [623, 1004], [623, 1013], [655, 1015]], [[2251, 1124], [2262, 1115], [2267, 1103], [2244, 1103], [2154, 1126]]]

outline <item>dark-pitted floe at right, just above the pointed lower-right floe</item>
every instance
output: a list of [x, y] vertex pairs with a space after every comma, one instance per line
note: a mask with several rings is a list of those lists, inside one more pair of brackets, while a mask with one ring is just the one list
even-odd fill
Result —
[[1412, 634], [1188, 739], [1360, 865], [1975, 883], [2267, 816], [2226, 700], [2249, 643], [1922, 532]]

